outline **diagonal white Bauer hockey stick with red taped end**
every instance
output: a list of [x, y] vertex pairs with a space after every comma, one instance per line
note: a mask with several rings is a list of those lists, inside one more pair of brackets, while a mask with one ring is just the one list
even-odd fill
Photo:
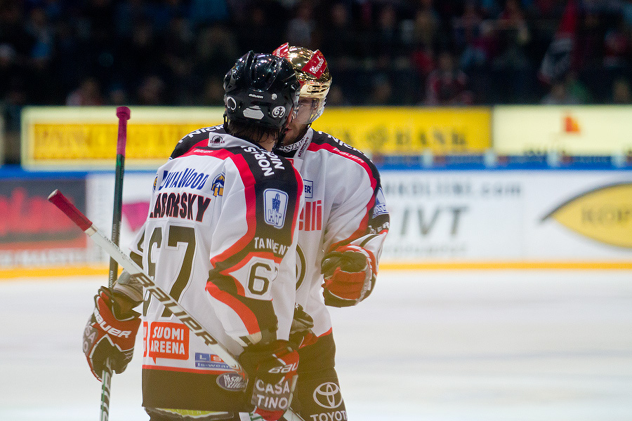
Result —
[[[77, 209], [76, 206], [70, 203], [66, 196], [64, 196], [59, 190], [52, 192], [51, 195], [48, 196], [48, 201], [53, 203], [53, 205], [57, 206], [63, 213], [65, 213], [66, 216], [77, 225], [77, 227], [90, 236], [100, 248], [103, 248], [105, 253], [109, 254], [110, 257], [116, 260], [123, 269], [139, 281], [143, 288], [152, 293], [154, 297], [156, 297], [159, 302], [164, 305], [164, 307], [168, 308], [174, 316], [178, 317], [178, 319], [180, 319], [180, 321], [184, 323], [185, 326], [192, 331], [192, 333], [202, 339], [204, 343], [220, 357], [220, 359], [228, 364], [230, 368], [235, 370], [237, 374], [241, 375], [244, 380], [243, 386], [245, 387], [247, 377], [241, 364], [239, 364], [239, 361], [237, 361], [235, 356], [228, 352], [228, 349], [213, 338], [213, 336], [204, 329], [202, 324], [195, 320], [194, 316], [189, 314], [189, 312], [187, 312], [187, 310], [182, 307], [177, 300], [174, 300], [171, 295], [166, 293], [165, 290], [160, 288], [160, 286], [157, 286], [150, 276], [145, 274], [143, 269], [138, 266], [136, 262], [131, 260], [129, 255], [123, 253], [119, 246], [114, 244], [107, 238], [107, 236], [100, 232], [99, 229], [93, 225], [91, 220], [88, 220], [86, 215], [81, 213], [81, 210]], [[287, 412], [284, 413], [283, 417], [287, 421], [304, 421], [303, 418], [294, 413], [291, 408], [287, 409]]]

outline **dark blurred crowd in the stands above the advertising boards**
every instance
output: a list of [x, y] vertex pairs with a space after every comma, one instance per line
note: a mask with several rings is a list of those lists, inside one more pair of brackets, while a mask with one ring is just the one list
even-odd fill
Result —
[[1, 0], [0, 107], [12, 132], [25, 105], [222, 105], [285, 41], [327, 58], [329, 105], [632, 103], [632, 0]]

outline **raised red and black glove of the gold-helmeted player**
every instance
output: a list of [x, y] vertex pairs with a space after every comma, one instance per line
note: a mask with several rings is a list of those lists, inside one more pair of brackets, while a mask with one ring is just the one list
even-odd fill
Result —
[[323, 297], [326, 305], [348, 307], [367, 298], [375, 284], [375, 258], [359, 246], [348, 244], [322, 259]]

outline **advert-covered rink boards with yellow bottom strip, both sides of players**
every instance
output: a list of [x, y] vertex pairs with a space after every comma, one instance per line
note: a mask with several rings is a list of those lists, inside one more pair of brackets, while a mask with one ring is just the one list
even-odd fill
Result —
[[[121, 246], [143, 225], [154, 173], [124, 179]], [[632, 171], [382, 169], [382, 269], [632, 268]], [[0, 178], [0, 276], [101, 273], [107, 256], [46, 201], [59, 188], [111, 232], [114, 174]]]

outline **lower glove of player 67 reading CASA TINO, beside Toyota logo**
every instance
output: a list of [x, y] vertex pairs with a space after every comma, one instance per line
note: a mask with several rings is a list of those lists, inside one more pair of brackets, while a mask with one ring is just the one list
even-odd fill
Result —
[[298, 352], [286, 340], [275, 340], [247, 347], [239, 355], [239, 363], [249, 377], [246, 387], [249, 412], [261, 415], [266, 421], [278, 420], [292, 401], [298, 378]]

